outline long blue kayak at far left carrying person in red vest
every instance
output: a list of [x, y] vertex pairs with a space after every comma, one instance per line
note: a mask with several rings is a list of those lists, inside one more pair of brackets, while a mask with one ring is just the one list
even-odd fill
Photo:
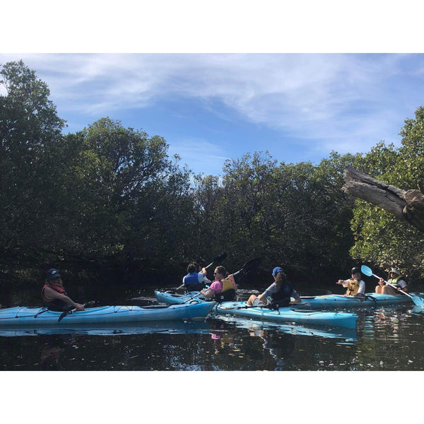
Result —
[[68, 324], [102, 324], [107, 322], [143, 322], [171, 319], [204, 318], [215, 302], [184, 303], [184, 305], [101, 306], [85, 311], [73, 311], [60, 322], [62, 312], [49, 311], [45, 307], [10, 307], [0, 310], [2, 326], [45, 326]]

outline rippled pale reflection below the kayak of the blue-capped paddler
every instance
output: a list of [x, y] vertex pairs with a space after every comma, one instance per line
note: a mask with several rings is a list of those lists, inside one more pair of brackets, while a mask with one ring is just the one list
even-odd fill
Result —
[[358, 336], [356, 329], [346, 329], [342, 327], [322, 327], [322, 326], [305, 326], [295, 324], [274, 324], [264, 323], [262, 321], [239, 318], [239, 317], [220, 317], [235, 324], [237, 328], [247, 329], [251, 336], [261, 336], [261, 331], [279, 331], [284, 334], [293, 334], [295, 336], [318, 336], [326, 338], [342, 338], [347, 341], [356, 341]]

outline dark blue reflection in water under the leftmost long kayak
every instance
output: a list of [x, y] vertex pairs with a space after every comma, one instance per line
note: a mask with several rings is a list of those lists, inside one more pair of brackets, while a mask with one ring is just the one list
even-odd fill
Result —
[[0, 336], [38, 336], [41, 334], [86, 334], [90, 336], [120, 336], [126, 334], [208, 334], [210, 324], [201, 321], [162, 321], [124, 324], [91, 324], [34, 327], [8, 326], [0, 328]]

